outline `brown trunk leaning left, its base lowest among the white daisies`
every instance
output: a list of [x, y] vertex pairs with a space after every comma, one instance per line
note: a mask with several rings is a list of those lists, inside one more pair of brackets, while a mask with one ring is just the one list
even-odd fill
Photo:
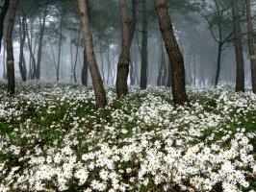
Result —
[[78, 0], [78, 5], [86, 41], [86, 53], [87, 59], [89, 61], [90, 74], [92, 79], [92, 85], [94, 88], [96, 106], [100, 111], [101, 117], [104, 120], [107, 120], [107, 111], [105, 109], [107, 106], [107, 98], [93, 51], [93, 42], [90, 31], [87, 3], [85, 2], [85, 0]]

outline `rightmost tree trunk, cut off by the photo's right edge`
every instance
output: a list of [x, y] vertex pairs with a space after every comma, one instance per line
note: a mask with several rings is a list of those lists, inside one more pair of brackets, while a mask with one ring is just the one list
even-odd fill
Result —
[[247, 17], [247, 30], [248, 30], [248, 48], [249, 48], [249, 58], [251, 66], [251, 85], [252, 92], [256, 94], [256, 56], [253, 46], [253, 26], [251, 17], [251, 4], [250, 0], [245, 0], [246, 2], [246, 17]]

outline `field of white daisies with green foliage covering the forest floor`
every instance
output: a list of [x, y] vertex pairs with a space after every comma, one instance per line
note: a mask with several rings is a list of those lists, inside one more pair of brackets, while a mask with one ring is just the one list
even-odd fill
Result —
[[93, 88], [0, 83], [0, 191], [256, 190], [256, 95], [233, 87], [106, 87], [111, 123]]

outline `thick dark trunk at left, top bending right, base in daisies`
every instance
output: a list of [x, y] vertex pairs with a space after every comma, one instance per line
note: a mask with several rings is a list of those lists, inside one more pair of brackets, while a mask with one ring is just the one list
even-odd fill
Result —
[[9, 22], [7, 28], [7, 77], [8, 77], [8, 93], [15, 94], [15, 76], [14, 76], [14, 57], [13, 57], [13, 25], [16, 9], [19, 0], [13, 0], [9, 12]]

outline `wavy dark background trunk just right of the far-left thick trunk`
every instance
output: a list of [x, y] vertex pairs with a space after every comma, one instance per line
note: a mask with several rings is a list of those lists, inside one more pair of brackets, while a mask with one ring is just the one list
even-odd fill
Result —
[[[23, 13], [22, 13], [23, 14]], [[25, 30], [25, 16], [22, 15], [19, 17], [19, 37], [20, 37], [20, 46], [19, 46], [19, 72], [21, 75], [22, 82], [27, 81], [27, 69], [26, 69], [26, 60], [24, 57], [24, 42], [26, 39], [26, 30]]]

